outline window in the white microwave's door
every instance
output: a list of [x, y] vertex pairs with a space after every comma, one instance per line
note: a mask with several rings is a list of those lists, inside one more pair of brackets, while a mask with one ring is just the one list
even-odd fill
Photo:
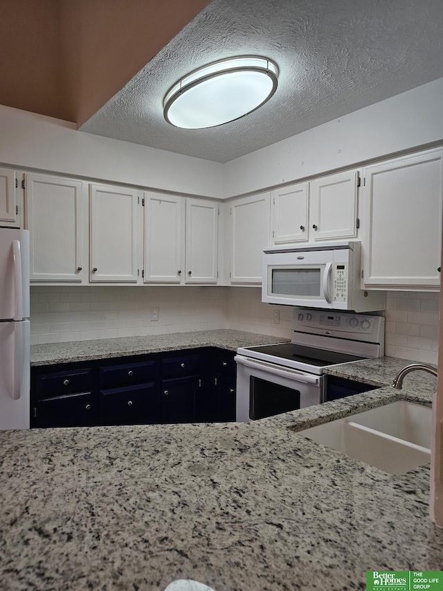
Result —
[[285, 297], [323, 298], [323, 273], [325, 265], [316, 267], [271, 267], [269, 285], [271, 294]]

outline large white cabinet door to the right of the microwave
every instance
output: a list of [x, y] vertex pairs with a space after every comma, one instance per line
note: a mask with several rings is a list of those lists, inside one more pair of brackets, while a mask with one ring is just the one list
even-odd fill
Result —
[[442, 150], [363, 170], [363, 284], [440, 287]]

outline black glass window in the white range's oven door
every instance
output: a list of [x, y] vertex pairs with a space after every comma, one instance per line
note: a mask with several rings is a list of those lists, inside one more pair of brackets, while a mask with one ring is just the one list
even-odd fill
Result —
[[251, 376], [249, 380], [249, 418], [252, 421], [300, 408], [299, 390], [273, 384], [255, 376]]

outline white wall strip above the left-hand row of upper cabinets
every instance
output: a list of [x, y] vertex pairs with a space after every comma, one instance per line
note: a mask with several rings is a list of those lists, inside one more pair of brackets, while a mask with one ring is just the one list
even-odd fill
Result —
[[60, 119], [0, 105], [0, 163], [221, 197], [222, 164], [75, 130]]

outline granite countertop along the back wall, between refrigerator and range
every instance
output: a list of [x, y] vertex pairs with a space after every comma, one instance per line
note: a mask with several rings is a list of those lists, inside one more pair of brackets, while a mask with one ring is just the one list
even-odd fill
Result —
[[244, 333], [241, 330], [199, 330], [195, 333], [171, 333], [149, 337], [122, 337], [118, 339], [99, 339], [94, 341], [75, 341], [69, 343], [50, 343], [32, 345], [30, 348], [31, 366], [90, 361], [111, 357], [127, 357], [161, 351], [196, 349], [197, 347], [219, 347], [237, 351], [240, 346], [289, 342], [289, 339]]

